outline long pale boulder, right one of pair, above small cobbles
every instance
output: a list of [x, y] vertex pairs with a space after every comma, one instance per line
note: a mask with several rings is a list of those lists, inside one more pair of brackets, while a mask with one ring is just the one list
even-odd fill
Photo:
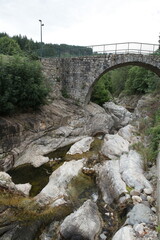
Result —
[[144, 176], [141, 155], [135, 150], [130, 150], [128, 154], [120, 157], [120, 173], [128, 186], [134, 187], [138, 191], [145, 188], [150, 192], [153, 191], [151, 184]]

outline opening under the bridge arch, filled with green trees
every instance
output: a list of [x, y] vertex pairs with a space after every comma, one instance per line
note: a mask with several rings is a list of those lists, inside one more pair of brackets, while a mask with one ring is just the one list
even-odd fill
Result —
[[[113, 78], [118, 77], [118, 74], [120, 75], [120, 79], [124, 77], [124, 79], [121, 81], [119, 80], [119, 82], [117, 79], [113, 80]], [[112, 86], [109, 86], [109, 84]], [[115, 84], [118, 84], [117, 88], [115, 87]], [[105, 85], [107, 85], [106, 89], [104, 89]], [[91, 100], [98, 103], [99, 105], [102, 105], [103, 99], [105, 100], [105, 96], [103, 96], [103, 94], [106, 95], [106, 101], [108, 101], [110, 96], [107, 96], [107, 94], [118, 96], [123, 90], [128, 95], [145, 94], [147, 92], [152, 92], [157, 88], [160, 90], [159, 68], [143, 62], [127, 62], [117, 64], [105, 69], [102, 73], [99, 74], [99, 76], [95, 78], [95, 81], [87, 93], [86, 103]], [[100, 95], [99, 97], [97, 96], [98, 94]]]

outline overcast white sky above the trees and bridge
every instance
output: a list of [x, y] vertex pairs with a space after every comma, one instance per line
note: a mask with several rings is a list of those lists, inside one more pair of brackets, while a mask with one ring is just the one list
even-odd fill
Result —
[[158, 43], [160, 0], [0, 0], [0, 32], [45, 43]]

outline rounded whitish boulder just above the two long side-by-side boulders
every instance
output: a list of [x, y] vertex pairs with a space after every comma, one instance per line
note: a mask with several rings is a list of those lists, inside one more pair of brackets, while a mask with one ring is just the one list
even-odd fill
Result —
[[119, 158], [129, 151], [129, 142], [119, 134], [106, 134], [101, 153], [109, 159]]

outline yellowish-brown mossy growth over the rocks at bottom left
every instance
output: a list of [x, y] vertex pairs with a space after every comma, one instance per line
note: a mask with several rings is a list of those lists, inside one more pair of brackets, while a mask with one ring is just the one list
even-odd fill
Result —
[[0, 190], [0, 205], [10, 209], [10, 214], [6, 214], [5, 222], [29, 223], [36, 220], [46, 223], [53, 218], [60, 220], [71, 213], [71, 206], [41, 207], [33, 198], [24, 197], [16, 192]]

